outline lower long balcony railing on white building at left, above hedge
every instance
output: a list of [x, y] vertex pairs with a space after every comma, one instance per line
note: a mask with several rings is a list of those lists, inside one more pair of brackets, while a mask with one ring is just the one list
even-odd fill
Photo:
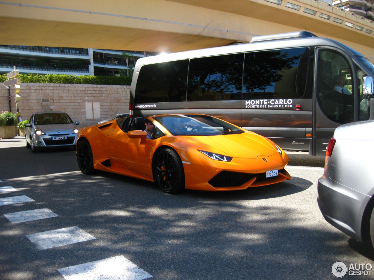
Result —
[[72, 63], [45, 63], [33, 60], [1, 59], [0, 67], [13, 67], [24, 70], [50, 71], [50, 72], [86, 72], [89, 73], [89, 65], [74, 65]]

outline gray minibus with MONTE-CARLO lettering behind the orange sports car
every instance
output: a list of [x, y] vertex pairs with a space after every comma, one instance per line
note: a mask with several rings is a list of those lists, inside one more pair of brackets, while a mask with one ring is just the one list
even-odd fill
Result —
[[144, 57], [130, 115], [204, 113], [323, 156], [341, 124], [374, 119], [374, 66], [338, 41], [306, 32]]

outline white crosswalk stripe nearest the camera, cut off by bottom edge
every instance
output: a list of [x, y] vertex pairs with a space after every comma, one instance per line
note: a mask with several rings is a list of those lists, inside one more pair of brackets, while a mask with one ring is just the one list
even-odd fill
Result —
[[153, 276], [124, 256], [115, 256], [58, 270], [66, 280], [143, 280]]

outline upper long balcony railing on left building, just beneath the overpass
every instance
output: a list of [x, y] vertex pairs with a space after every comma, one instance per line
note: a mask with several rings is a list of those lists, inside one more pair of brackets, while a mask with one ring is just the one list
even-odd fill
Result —
[[9, 50], [21, 50], [34, 53], [49, 53], [59, 55], [77, 55], [88, 56], [88, 49], [82, 48], [64, 48], [64, 47], [40, 47], [40, 46], [16, 46], [16, 45], [0, 45], [0, 48]]

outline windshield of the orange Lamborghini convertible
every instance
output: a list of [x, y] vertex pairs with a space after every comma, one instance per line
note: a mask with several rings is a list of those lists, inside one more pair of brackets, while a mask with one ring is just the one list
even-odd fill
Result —
[[228, 122], [206, 115], [156, 116], [154, 119], [173, 135], [212, 136], [244, 133]]

